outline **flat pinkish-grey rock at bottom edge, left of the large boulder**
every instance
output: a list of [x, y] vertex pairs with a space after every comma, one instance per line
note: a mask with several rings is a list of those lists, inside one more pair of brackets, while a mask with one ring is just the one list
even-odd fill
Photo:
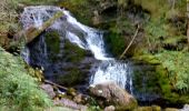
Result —
[[88, 111], [88, 107], [78, 104], [69, 99], [54, 100], [54, 105], [68, 107], [73, 110]]

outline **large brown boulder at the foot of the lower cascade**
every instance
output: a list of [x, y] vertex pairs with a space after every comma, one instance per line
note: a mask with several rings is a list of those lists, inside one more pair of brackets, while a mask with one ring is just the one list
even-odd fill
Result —
[[137, 107], [137, 100], [115, 82], [91, 85], [89, 90], [92, 95], [106, 99], [108, 104], [113, 104], [116, 110], [131, 110]]

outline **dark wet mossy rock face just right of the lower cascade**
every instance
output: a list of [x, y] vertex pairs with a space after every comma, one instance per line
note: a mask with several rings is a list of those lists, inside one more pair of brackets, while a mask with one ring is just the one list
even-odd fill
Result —
[[[136, 94], [139, 97], [143, 94], [145, 101], [153, 101], [162, 95], [161, 85], [168, 85], [168, 91], [170, 91], [170, 84], [165, 82], [168, 81], [165, 73], [157, 73], [156, 67], [150, 64], [137, 64], [133, 68], [133, 89]], [[163, 69], [162, 69], [163, 71]], [[160, 90], [161, 89], [161, 90]], [[149, 97], [150, 95], [150, 97]], [[143, 101], [140, 100], [139, 101]]]

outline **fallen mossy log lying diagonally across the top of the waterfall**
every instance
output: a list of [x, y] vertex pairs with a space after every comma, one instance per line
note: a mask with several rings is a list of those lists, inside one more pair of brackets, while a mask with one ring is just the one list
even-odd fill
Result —
[[31, 42], [34, 38], [37, 38], [40, 33], [42, 33], [47, 28], [53, 24], [53, 22], [60, 19], [63, 16], [63, 12], [58, 11], [52, 18], [47, 20], [40, 28], [36, 28], [34, 26], [28, 28], [27, 30], [22, 30], [13, 36], [13, 44], [20, 42], [21, 39], [26, 40], [26, 43]]

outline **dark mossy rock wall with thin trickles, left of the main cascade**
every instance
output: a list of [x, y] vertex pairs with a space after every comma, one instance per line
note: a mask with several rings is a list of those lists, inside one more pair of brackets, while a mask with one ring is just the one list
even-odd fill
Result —
[[[46, 41], [42, 41], [43, 39]], [[90, 68], [96, 62], [91, 52], [62, 39], [60, 33], [53, 30], [41, 34], [29, 43], [28, 48], [32, 52], [30, 64], [43, 67], [46, 79], [67, 87], [83, 88], [80, 84], [88, 82]]]

